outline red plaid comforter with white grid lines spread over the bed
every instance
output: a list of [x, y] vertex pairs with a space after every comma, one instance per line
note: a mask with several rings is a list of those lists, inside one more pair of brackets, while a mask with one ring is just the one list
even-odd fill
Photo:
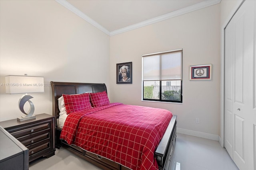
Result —
[[154, 152], [171, 118], [165, 109], [112, 103], [70, 113], [60, 139], [132, 170], [156, 170]]

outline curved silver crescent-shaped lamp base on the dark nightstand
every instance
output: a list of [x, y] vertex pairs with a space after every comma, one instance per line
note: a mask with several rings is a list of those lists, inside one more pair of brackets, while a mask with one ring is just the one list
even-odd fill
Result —
[[[19, 108], [20, 108], [20, 111], [21, 111], [22, 113], [24, 113], [25, 116], [18, 117], [18, 118], [17, 118], [18, 121], [25, 121], [25, 120], [30, 120], [30, 119], [36, 119], [36, 116], [33, 115], [33, 113], [34, 113], [34, 111], [35, 111], [35, 107], [34, 107], [34, 104], [30, 101], [30, 99], [32, 99], [32, 98], [33, 98], [33, 97], [30, 96], [30, 95], [28, 95], [28, 94], [24, 94], [24, 95], [22, 96], [22, 98], [20, 98], [19, 103], [18, 103], [18, 106], [19, 106]], [[28, 110], [28, 113], [26, 113], [26, 112], [24, 111], [24, 104], [25, 104], [26, 102], [28, 102], [29, 105], [30, 105], [30, 108], [29, 108], [29, 110]]]

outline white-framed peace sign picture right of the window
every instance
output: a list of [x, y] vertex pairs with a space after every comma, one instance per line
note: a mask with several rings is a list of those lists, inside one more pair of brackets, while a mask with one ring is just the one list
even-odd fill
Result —
[[190, 80], [212, 80], [212, 64], [190, 66]]

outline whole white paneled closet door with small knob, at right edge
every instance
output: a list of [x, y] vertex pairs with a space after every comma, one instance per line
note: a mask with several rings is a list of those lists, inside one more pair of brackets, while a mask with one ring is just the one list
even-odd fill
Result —
[[255, 10], [246, 0], [225, 29], [225, 147], [240, 170], [256, 170]]

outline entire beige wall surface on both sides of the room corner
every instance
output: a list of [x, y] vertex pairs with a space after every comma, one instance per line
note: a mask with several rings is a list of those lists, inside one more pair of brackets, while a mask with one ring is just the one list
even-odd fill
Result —
[[[109, 37], [55, 1], [0, 1], [0, 82], [9, 74], [44, 82], [106, 83], [111, 102], [165, 108], [178, 128], [220, 135], [221, 27], [237, 1]], [[183, 49], [183, 104], [141, 101], [142, 55]], [[133, 83], [116, 84], [116, 63], [132, 61]], [[93, 63], [93, 64], [92, 64]], [[213, 64], [211, 81], [190, 81], [189, 66]], [[35, 114], [52, 113], [52, 92], [32, 94]], [[0, 121], [22, 115], [20, 94], [0, 87]], [[200, 123], [195, 123], [195, 118]]]

